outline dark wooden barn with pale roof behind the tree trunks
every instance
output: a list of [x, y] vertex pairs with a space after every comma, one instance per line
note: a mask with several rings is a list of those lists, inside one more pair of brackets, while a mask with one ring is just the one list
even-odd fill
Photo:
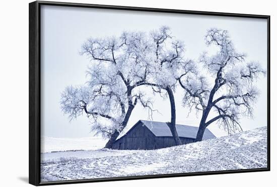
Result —
[[[176, 124], [176, 130], [182, 144], [192, 143], [198, 127]], [[216, 138], [206, 129], [203, 140]], [[151, 150], [174, 146], [175, 142], [166, 123], [140, 120], [126, 132], [121, 132], [112, 149]]]

